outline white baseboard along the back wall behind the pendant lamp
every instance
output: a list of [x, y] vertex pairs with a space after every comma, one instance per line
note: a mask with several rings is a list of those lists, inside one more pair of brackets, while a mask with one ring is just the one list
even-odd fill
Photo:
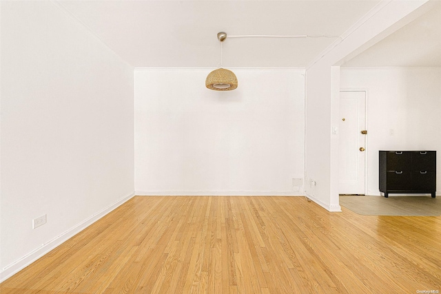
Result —
[[224, 190], [168, 190], [168, 191], [135, 191], [136, 196], [305, 196], [303, 191], [224, 191]]

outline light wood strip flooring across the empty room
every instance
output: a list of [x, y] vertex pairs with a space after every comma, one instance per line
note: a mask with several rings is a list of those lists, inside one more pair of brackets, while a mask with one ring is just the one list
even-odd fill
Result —
[[441, 293], [441, 217], [302, 197], [134, 197], [0, 293]]

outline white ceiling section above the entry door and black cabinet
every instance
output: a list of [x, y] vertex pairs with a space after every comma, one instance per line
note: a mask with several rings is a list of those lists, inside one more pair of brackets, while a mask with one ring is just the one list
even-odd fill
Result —
[[342, 66], [441, 67], [441, 1]]

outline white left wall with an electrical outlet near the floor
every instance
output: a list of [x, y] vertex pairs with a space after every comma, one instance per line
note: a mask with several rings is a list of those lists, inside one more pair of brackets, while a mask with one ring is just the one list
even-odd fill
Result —
[[1, 1], [1, 280], [133, 195], [133, 116], [132, 67], [54, 3]]

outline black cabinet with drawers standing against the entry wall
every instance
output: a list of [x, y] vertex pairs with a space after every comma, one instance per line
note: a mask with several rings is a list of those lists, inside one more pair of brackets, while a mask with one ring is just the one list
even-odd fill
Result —
[[431, 193], [436, 191], [436, 151], [380, 150], [380, 191]]

